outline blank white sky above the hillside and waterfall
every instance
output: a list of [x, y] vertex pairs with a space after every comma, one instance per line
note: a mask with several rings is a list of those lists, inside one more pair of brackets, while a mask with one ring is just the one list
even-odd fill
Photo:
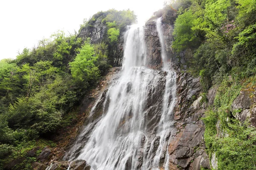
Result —
[[74, 33], [98, 11], [131, 9], [139, 23], [163, 7], [164, 0], [0, 0], [0, 59], [15, 58], [38, 40], [58, 31]]

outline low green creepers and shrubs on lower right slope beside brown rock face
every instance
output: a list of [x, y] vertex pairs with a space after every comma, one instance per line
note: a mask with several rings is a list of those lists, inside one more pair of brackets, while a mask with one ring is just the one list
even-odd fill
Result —
[[256, 129], [241, 124], [231, 112], [231, 105], [240, 91], [241, 85], [236, 79], [225, 77], [215, 96], [215, 109], [209, 109], [202, 118], [206, 126], [204, 141], [207, 152], [209, 156], [216, 154], [220, 170], [256, 169]]

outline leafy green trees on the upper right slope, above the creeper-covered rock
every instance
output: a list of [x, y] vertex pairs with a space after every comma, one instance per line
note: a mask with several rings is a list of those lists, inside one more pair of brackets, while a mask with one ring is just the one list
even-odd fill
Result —
[[227, 74], [236, 74], [238, 80], [256, 73], [255, 0], [180, 0], [176, 4], [180, 9], [172, 47], [177, 52], [192, 51], [186, 54], [187, 65], [193, 75], [202, 71], [205, 91]]

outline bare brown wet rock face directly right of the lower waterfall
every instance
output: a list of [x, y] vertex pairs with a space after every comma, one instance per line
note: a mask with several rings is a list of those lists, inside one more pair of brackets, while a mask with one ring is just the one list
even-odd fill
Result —
[[186, 73], [178, 75], [175, 133], [168, 146], [171, 169], [175, 169], [175, 165], [191, 170], [210, 167], [204, 148], [204, 123], [200, 119], [205, 111], [200, 92], [199, 78]]

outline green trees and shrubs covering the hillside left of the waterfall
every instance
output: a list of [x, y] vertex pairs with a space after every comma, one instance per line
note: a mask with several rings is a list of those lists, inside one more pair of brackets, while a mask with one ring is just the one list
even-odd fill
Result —
[[[106, 42], [91, 44], [90, 37], [82, 40], [76, 33], [66, 36], [58, 31], [39, 41], [38, 47], [25, 48], [16, 59], [0, 60], [0, 169], [23, 156], [21, 151], [35, 147], [38, 139], [44, 141], [68, 125], [68, 113], [108, 73], [108, 45], [136, 16], [111, 9], [93, 15], [81, 28], [93, 27], [100, 14], [102, 22], [118, 30], [109, 31]], [[42, 147], [47, 145], [43, 143]]]

